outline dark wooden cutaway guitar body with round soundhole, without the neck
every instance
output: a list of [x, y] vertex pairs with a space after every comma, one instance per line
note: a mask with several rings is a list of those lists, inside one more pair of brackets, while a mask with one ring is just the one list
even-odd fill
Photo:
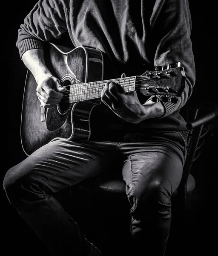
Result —
[[[63, 86], [103, 80], [103, 56], [89, 47], [61, 48], [49, 44], [46, 65]], [[27, 155], [60, 138], [89, 140], [90, 115], [100, 99], [83, 102], [61, 102], [43, 109], [36, 96], [37, 83], [27, 72], [21, 117], [21, 143]]]

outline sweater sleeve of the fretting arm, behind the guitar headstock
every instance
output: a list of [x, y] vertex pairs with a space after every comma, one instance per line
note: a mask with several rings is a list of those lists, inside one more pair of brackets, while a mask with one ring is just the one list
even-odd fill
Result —
[[[159, 0], [162, 7], [154, 9], [150, 19], [151, 44], [154, 52], [154, 66], [181, 62], [184, 67], [185, 88], [178, 97], [178, 103], [162, 102], [165, 113], [160, 118], [182, 108], [192, 94], [195, 84], [195, 62], [191, 41], [191, 15], [188, 0]], [[159, 5], [160, 7], [161, 5]], [[155, 43], [154, 43], [155, 42]], [[158, 96], [159, 98], [163, 95]], [[148, 100], [151, 100], [148, 99]]]

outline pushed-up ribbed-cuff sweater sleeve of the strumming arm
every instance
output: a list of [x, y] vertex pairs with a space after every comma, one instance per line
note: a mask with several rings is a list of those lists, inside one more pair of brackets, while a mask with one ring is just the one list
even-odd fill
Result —
[[16, 46], [20, 57], [29, 49], [43, 49], [44, 42], [60, 38], [66, 32], [64, 0], [39, 0], [18, 29]]

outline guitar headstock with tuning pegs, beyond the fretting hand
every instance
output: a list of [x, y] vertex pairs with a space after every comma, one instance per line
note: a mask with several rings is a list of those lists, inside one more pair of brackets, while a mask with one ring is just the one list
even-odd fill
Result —
[[184, 90], [185, 81], [184, 68], [178, 62], [174, 66], [168, 65], [165, 70], [160, 66], [156, 67], [154, 71], [147, 70], [142, 76], [137, 77], [136, 84], [140, 86], [136, 86], [136, 90], [148, 96], [166, 95], [179, 97]]

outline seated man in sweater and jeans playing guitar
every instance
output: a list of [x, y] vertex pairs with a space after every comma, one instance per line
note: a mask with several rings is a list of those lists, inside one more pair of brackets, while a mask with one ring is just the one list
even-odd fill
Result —
[[190, 32], [188, 0], [40, 0], [21, 24], [17, 47], [37, 82], [42, 109], [56, 107], [66, 91], [44, 57], [46, 44], [64, 33], [72, 47], [100, 49], [119, 76], [178, 62], [186, 74], [177, 103], [171, 97], [166, 102], [162, 96], [158, 101], [141, 93], [123, 94], [119, 85], [106, 82], [102, 103], [92, 112], [90, 140], [54, 140], [6, 173], [3, 186], [10, 203], [52, 255], [100, 254], [53, 194], [122, 163], [133, 252], [164, 256], [170, 198], [186, 157], [187, 130], [179, 110], [195, 84]]

